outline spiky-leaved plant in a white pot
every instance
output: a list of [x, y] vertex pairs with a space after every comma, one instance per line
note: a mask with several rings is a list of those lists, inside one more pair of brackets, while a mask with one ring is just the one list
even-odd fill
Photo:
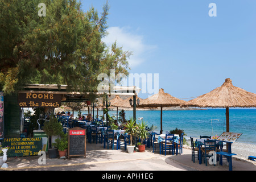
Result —
[[125, 132], [130, 135], [130, 145], [127, 145], [127, 151], [128, 153], [133, 153], [135, 147], [133, 145], [133, 137], [137, 135], [136, 119], [130, 118], [129, 121], [123, 124], [123, 127], [125, 127]]

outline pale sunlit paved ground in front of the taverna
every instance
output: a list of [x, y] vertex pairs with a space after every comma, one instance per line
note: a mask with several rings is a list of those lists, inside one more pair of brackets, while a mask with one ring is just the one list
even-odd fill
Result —
[[[181, 155], [160, 155], [152, 152], [152, 147], [145, 152], [127, 153], [123, 150], [106, 150], [103, 144], [86, 144], [86, 158], [49, 159], [46, 164], [39, 164], [40, 156], [22, 156], [7, 158], [8, 168], [0, 171], [228, 171], [228, 165], [205, 166], [191, 161], [191, 150], [183, 148]], [[233, 171], [256, 171], [256, 162], [233, 158]]]

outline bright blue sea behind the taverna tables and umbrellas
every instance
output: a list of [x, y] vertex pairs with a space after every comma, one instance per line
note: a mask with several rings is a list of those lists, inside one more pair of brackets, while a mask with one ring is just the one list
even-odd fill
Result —
[[[88, 111], [82, 111], [88, 113]], [[109, 111], [109, 114], [117, 111]], [[119, 112], [118, 112], [119, 113]], [[133, 117], [133, 111], [125, 111], [126, 119]], [[163, 133], [176, 129], [184, 130], [187, 137], [200, 137], [200, 135], [218, 135], [226, 131], [226, 110], [164, 110]], [[97, 114], [94, 111], [94, 114]], [[102, 114], [102, 111], [98, 111]], [[158, 126], [160, 131], [160, 111], [136, 111], [137, 118], [143, 117], [148, 126]], [[76, 116], [76, 115], [75, 115]], [[211, 119], [218, 119], [213, 120]], [[139, 122], [139, 121], [138, 121]], [[237, 142], [256, 144], [256, 109], [229, 109], [229, 131], [242, 133]]]

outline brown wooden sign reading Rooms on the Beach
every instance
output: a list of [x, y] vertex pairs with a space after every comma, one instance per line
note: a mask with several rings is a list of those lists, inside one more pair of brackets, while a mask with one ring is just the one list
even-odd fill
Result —
[[20, 107], [60, 107], [61, 94], [49, 93], [19, 93]]

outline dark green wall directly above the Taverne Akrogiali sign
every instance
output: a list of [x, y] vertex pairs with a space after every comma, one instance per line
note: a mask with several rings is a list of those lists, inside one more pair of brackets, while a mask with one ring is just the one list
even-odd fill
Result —
[[20, 107], [18, 94], [4, 96], [5, 107], [5, 138], [19, 138], [20, 136]]

